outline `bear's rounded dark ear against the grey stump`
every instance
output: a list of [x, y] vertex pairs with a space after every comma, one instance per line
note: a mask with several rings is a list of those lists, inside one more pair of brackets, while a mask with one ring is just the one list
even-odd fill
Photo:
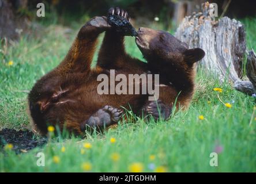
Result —
[[185, 61], [189, 63], [195, 63], [201, 60], [205, 56], [205, 51], [201, 48], [191, 48], [184, 52]]

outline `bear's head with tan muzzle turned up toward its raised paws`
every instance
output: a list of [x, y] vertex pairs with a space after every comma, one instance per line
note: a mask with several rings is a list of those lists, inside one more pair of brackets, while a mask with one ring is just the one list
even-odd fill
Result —
[[150, 68], [164, 73], [190, 72], [194, 63], [205, 56], [202, 49], [189, 49], [186, 43], [161, 30], [140, 28], [135, 43], [148, 61]]

